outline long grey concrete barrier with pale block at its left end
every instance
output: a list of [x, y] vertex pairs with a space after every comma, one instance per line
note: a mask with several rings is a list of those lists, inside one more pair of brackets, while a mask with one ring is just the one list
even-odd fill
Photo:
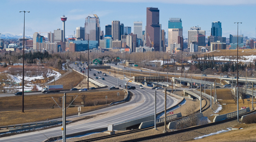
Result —
[[148, 116], [140, 117], [138, 119], [129, 120], [129, 121], [126, 121], [126, 122], [121, 122], [121, 123], [117, 123], [117, 124], [109, 124], [108, 125], [108, 131], [126, 130], [127, 127], [137, 125], [141, 122], [146, 122], [146, 121], [149, 121], [149, 120], [153, 120], [154, 117], [155, 117], [155, 115], [148, 115]]

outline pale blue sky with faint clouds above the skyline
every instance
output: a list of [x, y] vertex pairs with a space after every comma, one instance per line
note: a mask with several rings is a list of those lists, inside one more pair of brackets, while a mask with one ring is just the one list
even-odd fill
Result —
[[[168, 20], [171, 17], [182, 19], [183, 36], [188, 37], [190, 27], [199, 26], [211, 35], [211, 24], [222, 22], [222, 37], [239, 34], [249, 38], [256, 37], [254, 20], [255, 0], [1, 0], [0, 33], [14, 35], [23, 34], [25, 13], [25, 35], [32, 37], [34, 32], [47, 35], [55, 29], [62, 29], [60, 17], [64, 14], [66, 21], [66, 37], [74, 35], [76, 27], [84, 27], [85, 17], [97, 14], [100, 18], [101, 30], [113, 20], [119, 20], [124, 26], [142, 21], [146, 26], [146, 8], [160, 10], [160, 23], [168, 35]], [[105, 32], [104, 32], [105, 33]]]

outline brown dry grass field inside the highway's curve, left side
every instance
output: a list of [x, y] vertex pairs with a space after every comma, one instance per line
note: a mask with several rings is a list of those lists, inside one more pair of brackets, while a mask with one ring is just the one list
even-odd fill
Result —
[[[117, 92], [120, 94], [119, 98], [117, 97]], [[71, 98], [73, 97], [74, 99], [77, 95], [78, 97], [74, 100], [74, 105], [82, 105], [83, 100], [81, 96], [86, 95], [85, 107], [82, 107], [82, 112], [108, 106], [106, 105], [106, 96], [108, 96], [107, 104], [124, 98], [123, 91], [73, 92], [67, 93], [67, 106], [71, 101]], [[21, 113], [21, 96], [5, 97], [4, 99], [0, 99], [0, 125], [15, 125], [19, 123], [36, 122], [61, 117], [62, 111], [51, 97], [53, 97], [62, 107], [62, 101], [59, 99], [62, 96], [63, 93], [25, 96], [25, 113]], [[77, 107], [67, 109], [67, 115], [76, 113]]]

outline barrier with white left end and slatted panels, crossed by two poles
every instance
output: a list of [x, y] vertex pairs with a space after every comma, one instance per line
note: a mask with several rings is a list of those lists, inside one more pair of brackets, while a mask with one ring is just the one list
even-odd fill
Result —
[[[166, 121], [171, 121], [171, 120], [177, 119], [179, 117], [182, 117], [181, 113], [170, 115], [170, 116], [166, 117]], [[156, 124], [159, 124], [159, 123], [162, 123], [162, 122], [165, 122], [165, 118], [161, 118], [161, 119], [156, 120]], [[155, 124], [154, 120], [142, 122], [141, 125], [139, 125], [139, 129], [154, 126], [154, 124]]]

